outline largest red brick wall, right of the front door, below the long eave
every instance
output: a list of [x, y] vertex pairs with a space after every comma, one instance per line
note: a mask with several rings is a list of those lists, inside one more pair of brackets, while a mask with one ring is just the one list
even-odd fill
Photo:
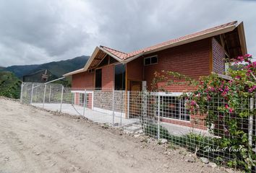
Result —
[[[158, 56], [157, 64], [144, 66], [144, 80], [147, 81], [148, 89], [150, 89], [150, 84], [152, 83], [155, 71], [175, 71], [194, 79], [198, 79], [200, 76], [209, 75], [210, 44], [209, 38], [147, 55]], [[166, 82], [163, 82], [160, 83], [159, 86], [165, 84]], [[185, 90], [194, 90], [195, 87], [187, 85], [171, 85], [166, 87], [166, 89], [170, 92], [183, 92]]]

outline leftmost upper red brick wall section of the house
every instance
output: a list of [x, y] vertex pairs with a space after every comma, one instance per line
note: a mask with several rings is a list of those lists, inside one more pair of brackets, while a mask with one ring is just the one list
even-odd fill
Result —
[[78, 89], [92, 89], [93, 88], [94, 73], [82, 72], [80, 74], [72, 75], [72, 88]]

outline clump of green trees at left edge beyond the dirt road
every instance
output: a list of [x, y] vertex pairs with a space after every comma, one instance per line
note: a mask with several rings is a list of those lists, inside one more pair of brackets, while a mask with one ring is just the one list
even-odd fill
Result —
[[0, 71], [0, 95], [19, 98], [21, 81], [10, 71]]

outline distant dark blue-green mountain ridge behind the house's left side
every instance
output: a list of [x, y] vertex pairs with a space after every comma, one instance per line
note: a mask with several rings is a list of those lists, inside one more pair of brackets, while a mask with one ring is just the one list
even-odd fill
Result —
[[55, 76], [62, 76], [70, 71], [77, 70], [85, 66], [88, 61], [89, 56], [78, 56], [64, 61], [53, 61], [50, 63], [35, 64], [35, 65], [25, 65], [25, 66], [9, 66], [4, 68], [4, 71], [12, 71], [18, 78], [22, 78], [27, 74], [33, 74], [37, 71], [43, 69], [48, 69]]

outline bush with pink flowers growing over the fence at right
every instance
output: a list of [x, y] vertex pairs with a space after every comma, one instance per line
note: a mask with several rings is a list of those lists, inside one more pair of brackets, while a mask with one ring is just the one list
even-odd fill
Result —
[[[240, 148], [236, 152], [223, 154], [223, 157], [218, 156], [218, 161], [230, 167], [244, 167], [249, 172], [255, 167], [256, 160], [252, 146], [249, 145], [248, 120], [249, 116], [255, 118], [256, 115], [256, 110], [250, 109], [250, 98], [255, 98], [256, 94], [256, 62], [252, 62], [252, 56], [247, 54], [233, 60], [231, 65], [239, 70], [230, 68], [227, 73], [229, 77], [225, 78], [211, 74], [195, 80], [176, 72], [155, 72], [153, 88], [157, 89], [161, 81], [167, 81], [167, 85], [174, 82], [177, 84], [176, 79], [183, 79], [182, 84], [185, 82], [197, 86], [195, 92], [183, 95], [187, 98], [190, 113], [207, 115], [205, 125], [210, 133], [221, 137], [216, 138], [220, 147]], [[255, 141], [255, 136], [252, 141]], [[229, 161], [226, 161], [225, 155], [228, 155]]]

